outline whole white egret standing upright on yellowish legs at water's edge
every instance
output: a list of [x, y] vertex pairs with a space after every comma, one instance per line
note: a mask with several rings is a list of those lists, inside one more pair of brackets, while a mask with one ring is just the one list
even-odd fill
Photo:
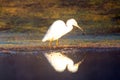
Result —
[[57, 40], [56, 45], [58, 46], [58, 39], [70, 32], [73, 29], [73, 26], [76, 26], [81, 31], [83, 31], [75, 19], [67, 20], [66, 24], [62, 20], [55, 21], [43, 37], [42, 42], [50, 41], [49, 46], [51, 46], [52, 41]]

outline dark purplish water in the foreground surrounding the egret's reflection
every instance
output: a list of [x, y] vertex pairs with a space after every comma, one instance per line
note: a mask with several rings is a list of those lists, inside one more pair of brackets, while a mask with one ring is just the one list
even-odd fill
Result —
[[[62, 52], [84, 58], [76, 73], [56, 72], [42, 53]], [[0, 52], [0, 80], [120, 80], [119, 48], [66, 48]]]

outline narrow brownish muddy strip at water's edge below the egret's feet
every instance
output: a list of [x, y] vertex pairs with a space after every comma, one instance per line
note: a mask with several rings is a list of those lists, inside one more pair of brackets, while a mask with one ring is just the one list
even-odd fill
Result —
[[36, 47], [12, 47], [12, 48], [2, 48], [0, 47], [1, 54], [17, 54], [17, 53], [45, 53], [51, 51], [59, 51], [62, 53], [109, 53], [109, 52], [120, 52], [120, 47], [80, 47], [80, 46], [36, 46]]

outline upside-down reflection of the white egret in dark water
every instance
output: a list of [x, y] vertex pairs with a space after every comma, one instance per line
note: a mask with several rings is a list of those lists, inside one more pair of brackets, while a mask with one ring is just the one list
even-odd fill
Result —
[[63, 72], [66, 68], [68, 71], [75, 73], [78, 71], [79, 65], [83, 62], [83, 60], [74, 64], [73, 60], [63, 55], [60, 52], [51, 52], [44, 54], [51, 66], [58, 72]]

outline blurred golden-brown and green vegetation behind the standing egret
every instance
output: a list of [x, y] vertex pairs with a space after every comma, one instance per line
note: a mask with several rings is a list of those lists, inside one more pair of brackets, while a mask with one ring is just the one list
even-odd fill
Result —
[[0, 31], [45, 32], [75, 18], [88, 34], [120, 32], [119, 0], [0, 0]]

